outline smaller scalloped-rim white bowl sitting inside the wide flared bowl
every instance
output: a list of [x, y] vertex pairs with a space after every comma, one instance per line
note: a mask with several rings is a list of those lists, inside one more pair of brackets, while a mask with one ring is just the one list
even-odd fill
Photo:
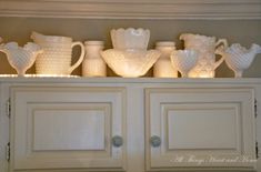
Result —
[[148, 29], [112, 29], [111, 30], [112, 45], [117, 50], [147, 50], [150, 40], [150, 30]]

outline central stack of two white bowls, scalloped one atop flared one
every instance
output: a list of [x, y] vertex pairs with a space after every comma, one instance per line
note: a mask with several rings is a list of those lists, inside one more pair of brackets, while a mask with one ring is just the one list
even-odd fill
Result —
[[147, 50], [150, 39], [148, 29], [112, 29], [113, 49], [101, 52], [107, 64], [121, 77], [144, 75], [160, 58], [158, 50]]

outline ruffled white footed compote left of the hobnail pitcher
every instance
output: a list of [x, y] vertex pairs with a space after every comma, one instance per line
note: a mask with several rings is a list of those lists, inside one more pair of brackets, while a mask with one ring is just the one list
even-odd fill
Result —
[[10, 65], [16, 69], [18, 75], [24, 75], [34, 63], [37, 55], [42, 52], [41, 48], [32, 42], [28, 42], [23, 48], [17, 42], [9, 42], [1, 44], [0, 51], [7, 54]]

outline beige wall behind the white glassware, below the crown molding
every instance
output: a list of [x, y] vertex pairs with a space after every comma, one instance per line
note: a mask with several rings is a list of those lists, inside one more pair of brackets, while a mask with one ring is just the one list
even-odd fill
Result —
[[[261, 44], [260, 20], [91, 20], [91, 19], [42, 19], [42, 18], [0, 18], [0, 37], [4, 42], [18, 41], [24, 44], [30, 40], [31, 31], [44, 34], [57, 34], [72, 37], [74, 40], [104, 40], [106, 47], [111, 48], [109, 31], [112, 28], [148, 28], [151, 30], [150, 48], [155, 41], [175, 41], [181, 48], [178, 37], [182, 32], [192, 32], [217, 38], [227, 38], [230, 43], [240, 42], [250, 47], [252, 42]], [[34, 69], [30, 69], [30, 73]], [[8, 64], [7, 58], [0, 53], [0, 73], [14, 73]], [[74, 74], [80, 74], [77, 69]], [[149, 73], [150, 75], [150, 73]], [[218, 77], [231, 77], [232, 72], [224, 65], [218, 69]], [[257, 57], [253, 64], [244, 77], [261, 77], [261, 54]]]

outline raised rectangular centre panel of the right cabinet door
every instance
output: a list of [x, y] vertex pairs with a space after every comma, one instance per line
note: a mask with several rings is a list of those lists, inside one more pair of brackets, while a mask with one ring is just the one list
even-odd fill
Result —
[[[169, 150], [238, 150], [238, 104], [163, 105]], [[164, 124], [164, 123], [163, 123]]]

